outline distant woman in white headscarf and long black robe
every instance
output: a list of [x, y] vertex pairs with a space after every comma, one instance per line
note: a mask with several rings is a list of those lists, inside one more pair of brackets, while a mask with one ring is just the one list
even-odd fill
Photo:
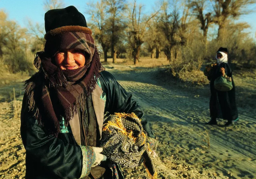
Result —
[[[214, 69], [210, 78], [210, 117], [211, 120], [206, 123], [217, 125], [216, 118], [227, 120], [226, 126], [231, 125], [232, 121], [238, 120], [238, 111], [236, 107], [235, 84], [232, 77], [232, 70], [228, 65], [228, 49], [220, 47], [216, 52], [218, 67]], [[233, 88], [230, 91], [218, 91], [214, 88], [214, 81], [220, 76], [228, 76], [232, 79]]]

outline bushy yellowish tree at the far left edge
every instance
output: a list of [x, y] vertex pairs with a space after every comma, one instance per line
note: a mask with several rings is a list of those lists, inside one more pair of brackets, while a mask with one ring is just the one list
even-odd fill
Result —
[[7, 14], [0, 11], [0, 60], [1, 65], [11, 73], [24, 70], [32, 70], [32, 62], [29, 61], [31, 37], [26, 28], [21, 28], [15, 21], [8, 20]]

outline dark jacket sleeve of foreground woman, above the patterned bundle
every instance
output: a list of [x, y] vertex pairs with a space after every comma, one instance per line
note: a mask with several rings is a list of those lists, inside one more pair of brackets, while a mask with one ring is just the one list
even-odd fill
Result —
[[137, 102], [132, 99], [132, 94], [127, 93], [126, 90], [116, 81], [114, 76], [107, 71], [101, 72], [100, 82], [102, 90], [106, 93], [105, 111], [110, 114], [114, 113], [132, 113], [134, 112], [142, 121], [143, 129], [147, 132], [149, 137], [154, 138], [154, 134], [150, 129], [148, 120], [143, 119], [144, 113], [139, 108]]

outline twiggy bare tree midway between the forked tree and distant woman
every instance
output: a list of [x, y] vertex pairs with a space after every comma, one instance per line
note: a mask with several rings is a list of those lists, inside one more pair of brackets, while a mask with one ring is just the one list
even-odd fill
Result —
[[189, 29], [192, 19], [189, 4], [189, 0], [162, 2], [159, 23], [165, 36], [163, 51], [170, 62], [178, 58], [181, 48], [188, 46], [188, 39], [192, 35]]

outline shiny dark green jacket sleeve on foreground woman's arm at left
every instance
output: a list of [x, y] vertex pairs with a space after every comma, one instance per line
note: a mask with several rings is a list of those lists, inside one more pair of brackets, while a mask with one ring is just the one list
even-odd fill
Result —
[[82, 172], [80, 147], [75, 142], [67, 143], [68, 135], [63, 137], [60, 133], [58, 138], [47, 136], [32, 113], [28, 112], [26, 98], [24, 95], [20, 129], [26, 149], [26, 178], [79, 178]]

